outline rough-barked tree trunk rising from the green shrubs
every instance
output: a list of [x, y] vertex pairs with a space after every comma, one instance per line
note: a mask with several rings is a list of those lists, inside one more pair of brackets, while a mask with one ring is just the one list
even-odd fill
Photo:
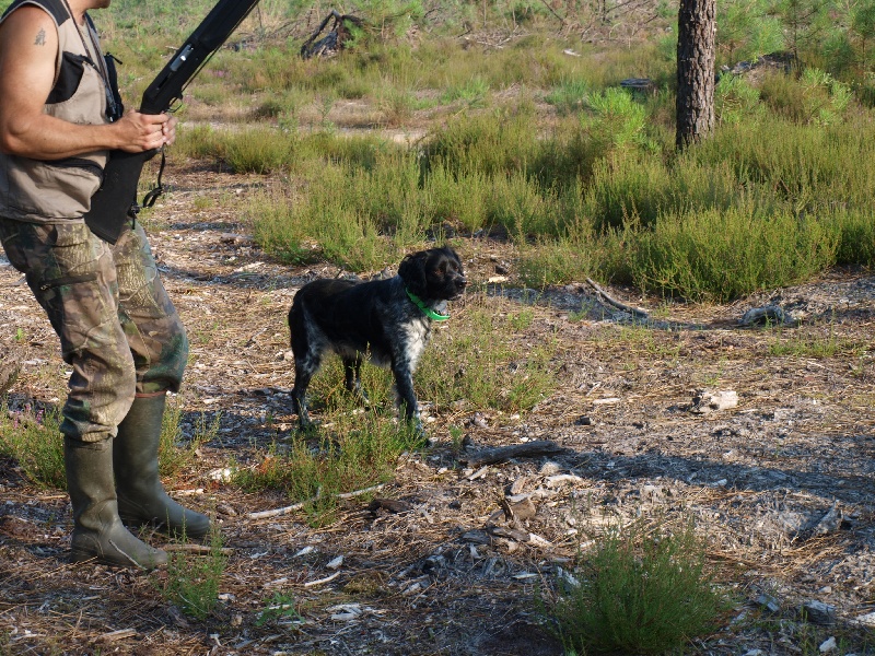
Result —
[[677, 134], [682, 150], [714, 129], [716, 0], [680, 0], [677, 16]]

